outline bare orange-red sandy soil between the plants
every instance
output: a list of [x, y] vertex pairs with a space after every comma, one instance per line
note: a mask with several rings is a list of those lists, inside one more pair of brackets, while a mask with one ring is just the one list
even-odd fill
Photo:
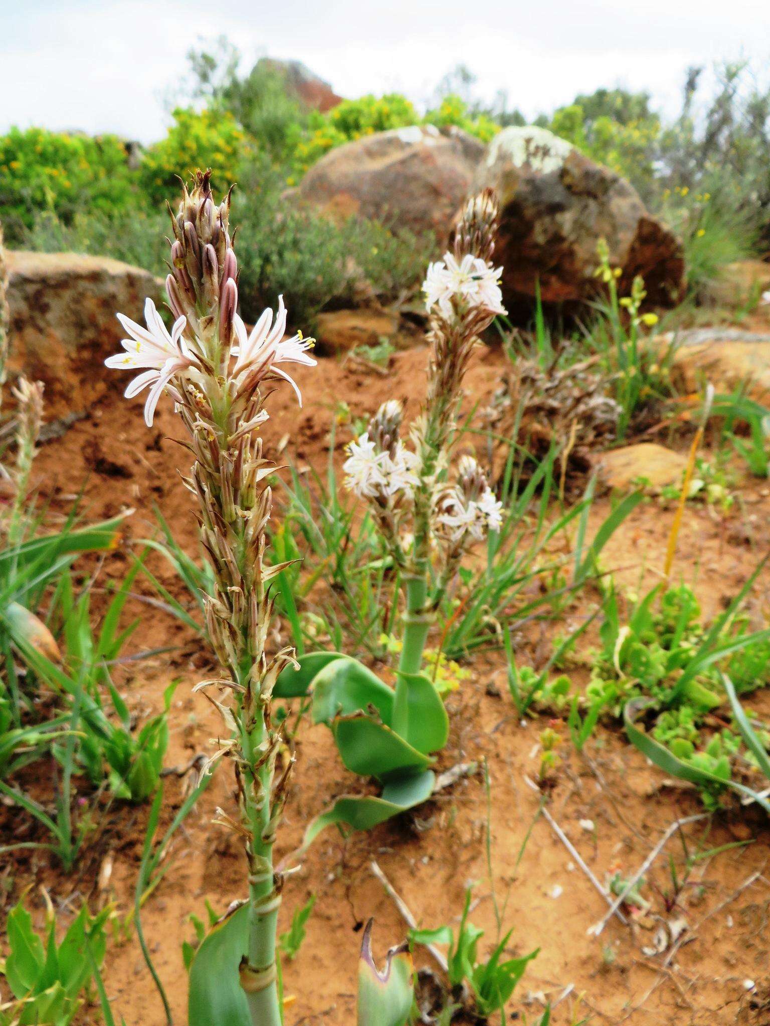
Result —
[[[288, 388], [272, 396], [272, 420], [265, 431], [267, 450], [288, 435], [281, 461], [321, 468], [330, 426], [341, 399], [355, 417], [396, 396], [407, 400], [408, 416], [414, 416], [424, 390], [425, 357], [424, 349], [399, 353], [387, 374], [331, 359], [321, 360], [313, 370], [302, 368], [304, 407], [297, 409]], [[491, 350], [476, 355], [467, 380], [468, 408], [475, 400], [485, 404], [503, 360], [499, 352]], [[36, 473], [41, 494], [52, 500], [52, 511], [66, 510], [69, 497], [85, 482], [83, 509], [89, 518], [134, 508], [126, 535], [137, 540], [153, 532], [152, 506], [157, 504], [177, 537], [189, 551], [195, 551], [190, 499], [178, 473], [188, 468], [187, 452], [172, 440], [179, 433], [169, 405], [161, 404], [155, 427], [148, 431], [140, 401], [126, 402], [116, 393], [61, 439], [44, 445]], [[340, 455], [347, 437], [346, 429], [338, 432]], [[708, 615], [719, 611], [736, 593], [767, 551], [770, 502], [766, 492], [766, 487], [746, 481], [741, 487], [742, 501], [724, 516], [702, 504], [688, 504], [677, 570], [685, 580], [696, 581]], [[592, 527], [609, 509], [609, 497], [596, 501]], [[655, 568], [662, 564], [672, 516], [672, 509], [661, 509], [657, 502], [643, 503], [606, 550], [605, 566], [622, 567], [619, 576], [627, 586], [638, 584], [643, 566], [648, 577], [654, 577]], [[128, 565], [127, 557], [118, 552], [108, 559], [104, 573], [119, 579]], [[166, 586], [182, 597], [172, 574], [160, 563], [153, 565]], [[151, 594], [140, 584], [137, 587]], [[753, 616], [766, 617], [769, 587], [765, 575], [749, 603]], [[595, 604], [596, 597], [589, 590], [564, 614], [556, 629], [576, 624], [588, 605]], [[208, 675], [209, 657], [192, 632], [170, 617], [139, 602], [132, 603], [129, 613], [143, 617], [130, 652], [166, 646], [172, 650], [119, 668], [117, 683], [131, 708], [146, 715], [160, 707], [167, 684], [180, 679], [171, 709], [167, 762], [183, 764], [199, 752], [210, 751], [209, 739], [219, 731], [205, 699], [191, 694], [196, 680]], [[533, 629], [522, 640], [519, 665], [528, 661], [541, 665], [547, 652], [544, 635]], [[540, 948], [510, 1002], [510, 1018], [517, 1015], [519, 1020], [532, 1022], [542, 1012], [543, 997], [556, 1000], [572, 988], [555, 1008], [552, 1021], [556, 1024], [573, 1024], [584, 1018], [593, 1023], [628, 1022], [633, 1026], [770, 1023], [770, 871], [763, 875], [770, 857], [770, 830], [764, 815], [729, 802], [726, 813], [684, 828], [691, 852], [735, 840], [753, 843], [696, 863], [673, 912], [684, 916], [689, 931], [667, 966], [663, 965], [667, 952], [653, 956], [643, 951], [654, 943], [659, 925], [655, 916], [671, 917], [666, 915], [662, 898], [670, 891], [665, 854], [646, 874], [643, 891], [652, 902], [652, 914], [631, 925], [613, 920], [600, 938], [586, 936], [607, 906], [546, 820], [538, 818], [540, 794], [525, 782], [525, 777], [537, 773], [538, 735], [547, 719], [519, 723], [499, 655], [479, 656], [468, 666], [470, 678], [448, 703], [452, 736], [438, 768], [485, 757], [488, 762], [494, 894], [504, 907], [505, 929], [513, 928], [510, 951], [522, 954]], [[768, 707], [764, 698], [759, 701]], [[565, 728], [563, 733], [567, 735]], [[325, 727], [304, 722], [297, 754], [292, 794], [279, 834], [281, 854], [299, 844], [304, 825], [332, 798], [361, 787], [361, 782], [341, 765]], [[600, 727], [583, 755], [566, 741], [562, 754], [548, 808], [603, 883], [616, 868], [625, 875], [634, 871], [676, 819], [702, 813], [693, 790], [672, 786], [617, 728]], [[39, 773], [47, 772], [43, 763], [38, 766]], [[184, 780], [167, 780], [164, 822], [179, 806], [184, 787]], [[223, 764], [175, 841], [168, 856], [171, 868], [144, 908], [145, 933], [177, 1023], [186, 1021], [187, 977], [181, 943], [194, 936], [189, 913], [205, 918], [206, 899], [221, 912], [231, 901], [243, 897], [242, 854], [231, 836], [210, 824], [217, 805], [227, 810], [232, 803], [230, 770]], [[119, 915], [125, 916], [131, 906], [147, 815], [147, 806], [113, 805], [99, 839], [70, 876], [51, 866], [45, 854], [21, 853], [2, 871], [5, 908], [29, 884], [44, 883], [57, 907], [66, 909], [62, 912], [65, 921], [83, 899], [93, 905], [112, 900]], [[25, 814], [6, 807], [0, 810], [0, 827], [4, 824], [6, 833], [13, 830], [17, 838], [25, 836]], [[591, 820], [595, 830], [584, 829], [581, 820]], [[347, 840], [333, 830], [318, 838], [284, 891], [282, 930], [294, 909], [310, 895], [317, 897], [307, 939], [297, 957], [284, 964], [285, 992], [290, 995], [287, 1026], [348, 1026], [354, 1022], [361, 928], [370, 916], [376, 919], [378, 957], [402, 939], [405, 922], [373, 876], [373, 860], [418, 922], [426, 926], [456, 924], [465, 887], [476, 881], [472, 920], [488, 931], [486, 940], [494, 940], [487, 822], [484, 780], [476, 775], [420, 808], [416, 816], [401, 817]], [[682, 851], [677, 837], [665, 850], [673, 856], [680, 873]], [[112, 876], [100, 889], [100, 869], [110, 861]], [[34, 902], [42, 921], [42, 904], [36, 898]], [[416, 961], [418, 966], [436, 968], [423, 949], [417, 951]], [[110, 944], [105, 978], [118, 1022], [122, 1017], [127, 1026], [163, 1023], [162, 1008], [132, 932], [127, 932], [127, 939], [119, 935]], [[747, 990], [746, 980], [756, 986]], [[77, 1021], [97, 1022], [99, 1018], [99, 1011], [90, 1008], [83, 1010]]]

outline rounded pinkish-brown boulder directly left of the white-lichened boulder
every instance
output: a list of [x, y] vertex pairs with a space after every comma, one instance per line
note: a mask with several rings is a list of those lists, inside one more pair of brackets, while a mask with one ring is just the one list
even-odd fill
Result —
[[392, 128], [330, 151], [302, 180], [299, 195], [336, 215], [434, 232], [445, 244], [483, 155], [478, 140], [459, 128]]

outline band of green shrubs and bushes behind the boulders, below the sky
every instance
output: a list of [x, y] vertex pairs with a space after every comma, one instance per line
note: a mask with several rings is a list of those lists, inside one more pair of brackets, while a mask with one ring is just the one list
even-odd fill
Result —
[[[696, 301], [722, 267], [770, 242], [770, 88], [745, 64], [715, 72], [710, 85], [702, 68], [687, 72], [673, 119], [648, 93], [619, 88], [577, 95], [536, 119], [627, 177], [678, 231]], [[44, 128], [0, 136], [6, 244], [105, 253], [162, 273], [157, 211], [178, 175], [207, 165], [215, 186], [239, 183], [236, 216], [251, 243], [241, 251], [256, 254], [243, 269], [246, 316], [282, 291], [293, 315], [312, 322], [364, 279], [390, 300], [416, 287], [432, 240], [398, 247], [381, 226], [331, 226], [282, 204], [281, 195], [330, 150], [374, 132], [427, 122], [489, 142], [501, 127], [526, 123], [505, 95], [474, 101], [473, 83], [456, 69], [424, 115], [398, 93], [320, 113], [303, 106], [281, 66], [262, 60], [243, 73], [235, 47], [220, 38], [190, 52], [166, 136], [144, 150], [114, 135]], [[146, 212], [137, 215], [138, 207]]]

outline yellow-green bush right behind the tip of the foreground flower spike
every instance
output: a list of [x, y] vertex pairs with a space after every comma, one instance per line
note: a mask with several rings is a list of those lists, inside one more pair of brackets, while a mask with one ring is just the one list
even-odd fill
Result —
[[238, 180], [242, 162], [256, 147], [231, 114], [178, 107], [172, 116], [165, 139], [142, 158], [140, 179], [152, 203], [175, 195], [179, 179], [189, 179], [197, 167], [210, 167], [215, 191]]

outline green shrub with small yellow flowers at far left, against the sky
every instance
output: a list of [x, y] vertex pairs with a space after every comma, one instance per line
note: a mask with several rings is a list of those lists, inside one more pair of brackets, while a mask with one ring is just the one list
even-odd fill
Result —
[[133, 198], [125, 146], [116, 135], [11, 128], [0, 135], [0, 216], [17, 243], [41, 210], [65, 223], [89, 210], [124, 210]]

